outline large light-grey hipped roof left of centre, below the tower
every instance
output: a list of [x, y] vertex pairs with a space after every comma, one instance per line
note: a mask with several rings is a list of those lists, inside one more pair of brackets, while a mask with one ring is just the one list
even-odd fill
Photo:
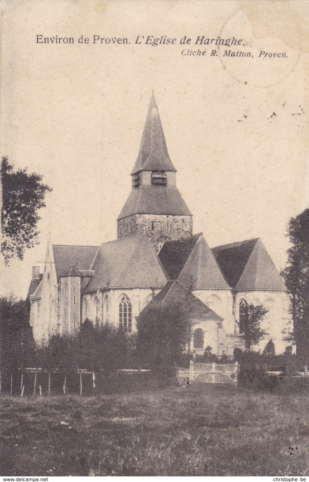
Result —
[[161, 288], [167, 273], [146, 234], [101, 244], [94, 259], [94, 275], [85, 291], [99, 288]]

